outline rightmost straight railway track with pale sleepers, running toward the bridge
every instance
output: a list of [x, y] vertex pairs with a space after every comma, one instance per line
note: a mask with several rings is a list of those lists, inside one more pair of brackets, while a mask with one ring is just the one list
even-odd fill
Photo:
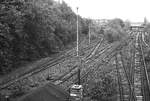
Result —
[[[142, 41], [143, 32], [136, 32], [135, 54], [134, 54], [134, 69], [131, 73], [131, 81], [134, 85], [135, 101], [149, 101], [150, 88], [147, 67], [144, 59]], [[133, 100], [133, 99], [132, 99]]]

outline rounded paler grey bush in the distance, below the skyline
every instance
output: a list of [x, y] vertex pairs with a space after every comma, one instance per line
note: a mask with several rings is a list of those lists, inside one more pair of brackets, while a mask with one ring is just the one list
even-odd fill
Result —
[[107, 27], [104, 29], [104, 37], [110, 43], [120, 41], [126, 35], [125, 24], [121, 19], [113, 19], [109, 21]]

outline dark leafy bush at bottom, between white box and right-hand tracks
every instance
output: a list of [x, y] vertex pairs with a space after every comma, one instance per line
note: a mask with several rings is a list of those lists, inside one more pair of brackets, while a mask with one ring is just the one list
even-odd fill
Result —
[[111, 75], [103, 75], [100, 81], [94, 83], [90, 96], [96, 101], [113, 101], [117, 93], [115, 80]]

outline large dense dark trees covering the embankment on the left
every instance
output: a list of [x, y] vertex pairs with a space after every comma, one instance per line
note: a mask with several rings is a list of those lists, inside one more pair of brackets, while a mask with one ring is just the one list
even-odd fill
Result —
[[[88, 21], [79, 17], [79, 34]], [[0, 74], [25, 61], [46, 57], [76, 39], [76, 14], [65, 2], [0, 1]]]

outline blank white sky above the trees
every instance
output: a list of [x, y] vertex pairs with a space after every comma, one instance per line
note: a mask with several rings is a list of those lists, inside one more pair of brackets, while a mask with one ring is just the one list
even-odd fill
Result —
[[124, 21], [143, 22], [150, 19], [150, 0], [56, 0], [65, 1], [74, 12], [92, 19], [121, 18]]

